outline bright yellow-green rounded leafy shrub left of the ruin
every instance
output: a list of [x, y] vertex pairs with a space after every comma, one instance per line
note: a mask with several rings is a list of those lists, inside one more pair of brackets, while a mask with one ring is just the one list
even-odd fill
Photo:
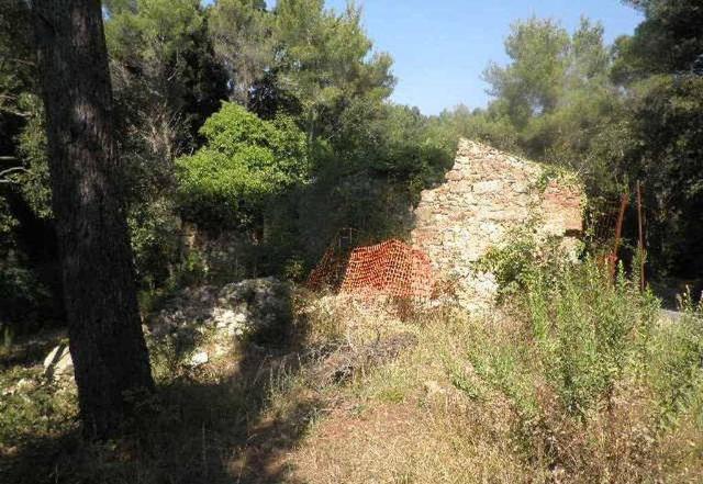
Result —
[[176, 165], [181, 210], [203, 226], [250, 225], [270, 196], [309, 177], [305, 136], [291, 119], [264, 121], [225, 102], [200, 134], [205, 146]]

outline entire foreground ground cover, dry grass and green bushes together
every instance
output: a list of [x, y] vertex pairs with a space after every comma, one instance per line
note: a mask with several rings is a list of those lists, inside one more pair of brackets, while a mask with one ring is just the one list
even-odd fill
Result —
[[684, 301], [672, 324], [592, 261], [523, 267], [511, 303], [483, 316], [447, 303], [401, 319], [393, 305], [297, 291], [283, 345], [254, 334], [193, 368], [186, 340], [153, 338], [160, 390], [142, 404], [146, 431], [107, 444], [81, 442], [71, 386], [41, 365], [7, 369], [0, 475], [696, 482], [703, 307]]

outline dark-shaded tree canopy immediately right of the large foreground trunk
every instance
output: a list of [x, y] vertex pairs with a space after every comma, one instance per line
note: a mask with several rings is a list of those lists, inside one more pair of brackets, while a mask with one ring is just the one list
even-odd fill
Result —
[[198, 0], [107, 4], [105, 37], [127, 136], [174, 157], [197, 145], [198, 128], [227, 95]]

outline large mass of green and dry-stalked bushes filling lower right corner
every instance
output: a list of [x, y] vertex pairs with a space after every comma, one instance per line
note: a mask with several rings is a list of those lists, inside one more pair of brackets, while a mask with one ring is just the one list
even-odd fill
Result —
[[445, 361], [455, 387], [486, 408], [507, 404], [520, 453], [557, 481], [694, 475], [703, 302], [684, 297], [680, 319], [668, 322], [636, 273], [621, 268], [612, 281], [588, 257], [555, 263], [521, 247], [493, 256], [520, 291], [503, 300], [511, 311], [467, 325], [465, 357]]

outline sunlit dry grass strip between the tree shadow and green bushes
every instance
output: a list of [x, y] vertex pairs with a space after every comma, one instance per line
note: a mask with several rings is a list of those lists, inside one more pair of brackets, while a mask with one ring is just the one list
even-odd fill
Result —
[[301, 482], [525, 481], [510, 409], [479, 404], [449, 381], [446, 361], [461, 352], [466, 326], [447, 316], [395, 322], [420, 345], [338, 390], [343, 401], [289, 457]]

